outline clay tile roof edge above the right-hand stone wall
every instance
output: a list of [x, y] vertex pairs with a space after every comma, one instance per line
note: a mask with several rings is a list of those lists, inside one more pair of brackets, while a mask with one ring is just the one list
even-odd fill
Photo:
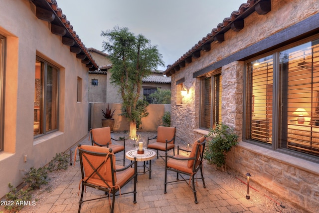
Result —
[[216, 28], [213, 28], [210, 33], [208, 33], [205, 37], [203, 37], [201, 40], [198, 41], [197, 44], [195, 44], [191, 49], [189, 49], [183, 56], [181, 56], [177, 61], [175, 61], [172, 65], [170, 65], [165, 71], [164, 74], [169, 74], [169, 71], [174, 69], [175, 66], [177, 66], [180, 62], [185, 60], [185, 58], [191, 56], [192, 53], [196, 51], [201, 50], [201, 46], [205, 43], [211, 42], [214, 38], [214, 36], [218, 33], [225, 33], [230, 29], [229, 24], [236, 20], [237, 18], [244, 18], [247, 15], [245, 15], [245, 11], [248, 9], [251, 9], [254, 7], [255, 3], [259, 0], [247, 0], [247, 3], [242, 3], [239, 6], [239, 9], [236, 11], [233, 11], [230, 15], [230, 17], [224, 18], [223, 22], [217, 24]]

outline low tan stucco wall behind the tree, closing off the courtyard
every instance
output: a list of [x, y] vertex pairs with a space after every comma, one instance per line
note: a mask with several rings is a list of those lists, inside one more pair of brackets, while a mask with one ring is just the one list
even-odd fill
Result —
[[[91, 108], [91, 127], [100, 128], [102, 127], [101, 119], [103, 119], [102, 109], [105, 111], [107, 103], [92, 103]], [[121, 116], [121, 107], [120, 103], [109, 103], [110, 108], [115, 110], [114, 112], [114, 131], [129, 131], [130, 123], [124, 117]], [[169, 104], [149, 104], [147, 108], [149, 116], [142, 118], [142, 128], [139, 130], [141, 132], [156, 132], [158, 126], [162, 124], [161, 118], [164, 115], [165, 111], [170, 111]]]

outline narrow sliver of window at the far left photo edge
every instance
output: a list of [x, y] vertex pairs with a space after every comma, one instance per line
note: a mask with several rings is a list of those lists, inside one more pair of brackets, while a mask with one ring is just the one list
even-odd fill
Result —
[[4, 140], [4, 49], [5, 38], [0, 35], [0, 151], [3, 151]]

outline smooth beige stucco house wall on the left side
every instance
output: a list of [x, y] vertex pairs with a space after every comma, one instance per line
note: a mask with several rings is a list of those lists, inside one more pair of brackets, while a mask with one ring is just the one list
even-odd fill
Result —
[[[0, 198], [8, 183], [22, 183], [24, 171], [39, 168], [87, 135], [88, 68], [35, 16], [28, 0], [6, 0], [0, 6], [0, 34], [6, 37], [4, 152], [0, 152]], [[33, 139], [36, 55], [60, 69], [59, 127]], [[82, 102], [77, 102], [77, 79], [82, 78]], [[23, 163], [24, 156], [27, 162]]]

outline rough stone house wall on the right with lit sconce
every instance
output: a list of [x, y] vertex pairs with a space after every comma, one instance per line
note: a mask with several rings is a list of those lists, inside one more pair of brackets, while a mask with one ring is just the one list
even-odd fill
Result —
[[[198, 129], [200, 81], [199, 78], [193, 78], [193, 73], [319, 11], [317, 0], [272, 0], [271, 4], [270, 12], [265, 15], [253, 12], [244, 19], [242, 30], [227, 31], [224, 42], [212, 42], [210, 51], [201, 51], [199, 58], [192, 58], [191, 63], [172, 74], [171, 126], [176, 126], [176, 136], [180, 141], [192, 143], [201, 135], [208, 133]], [[221, 20], [223, 18], [221, 17]], [[256, 49], [255, 51], [262, 50]], [[253, 176], [251, 180], [254, 184], [260, 184], [283, 199], [289, 199], [300, 209], [318, 212], [319, 165], [241, 141], [244, 116], [244, 62], [230, 62], [222, 66], [221, 70], [222, 122], [234, 127], [240, 136], [239, 145], [227, 155], [228, 168], [242, 178], [245, 178], [245, 174], [249, 172]], [[178, 94], [180, 92], [176, 81], [183, 78], [183, 85], [189, 89], [189, 94], [188, 97], [182, 99], [182, 104], [180, 104], [180, 94]]]

